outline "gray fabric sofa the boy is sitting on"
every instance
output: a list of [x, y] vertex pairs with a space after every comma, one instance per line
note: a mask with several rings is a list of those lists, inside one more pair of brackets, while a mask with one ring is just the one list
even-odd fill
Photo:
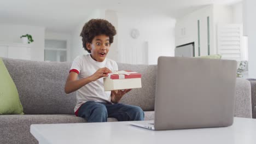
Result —
[[[3, 62], [18, 88], [25, 115], [0, 115], [0, 143], [38, 143], [30, 134], [31, 124], [86, 122], [74, 116], [75, 92], [64, 92], [71, 63], [9, 58], [3, 58]], [[142, 88], [132, 89], [121, 103], [140, 106], [145, 120], [154, 119], [156, 65], [118, 63], [118, 67], [142, 74]], [[235, 116], [252, 117], [251, 85], [247, 80], [237, 79]]]

